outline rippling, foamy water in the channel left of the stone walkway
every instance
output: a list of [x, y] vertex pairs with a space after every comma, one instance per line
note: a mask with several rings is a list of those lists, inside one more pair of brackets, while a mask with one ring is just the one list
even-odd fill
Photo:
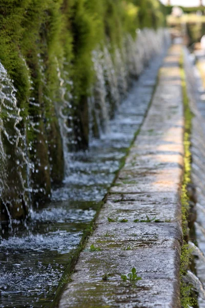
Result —
[[[109, 58], [107, 51], [104, 52]], [[139, 50], [140, 56], [141, 52]], [[147, 55], [146, 62], [150, 56], [151, 54]], [[93, 57], [96, 60], [99, 54], [94, 54]], [[120, 61], [119, 54], [116, 59]], [[53, 188], [52, 200], [49, 203], [39, 204], [39, 208], [35, 210], [30, 208], [30, 217], [25, 223], [14, 221], [12, 229], [2, 226], [0, 307], [50, 305], [60, 277], [79, 244], [83, 230], [101, 205], [135, 132], [144, 120], [162, 59], [162, 55], [155, 57], [138, 81], [133, 83], [130, 93], [120, 105], [115, 95], [115, 80], [112, 76], [107, 76], [112, 83], [111, 95], [115, 97], [118, 105], [115, 117], [109, 120], [109, 127], [105, 124], [108, 122], [108, 116], [105, 108], [107, 101], [103, 93], [107, 83], [100, 80], [100, 71], [98, 72], [97, 86], [101, 91], [98, 91], [101, 104], [98, 111], [100, 109], [104, 113], [103, 120], [107, 129], [101, 130], [100, 138], [95, 138], [90, 133], [91, 141], [87, 151], [67, 152], [65, 159], [69, 160], [69, 172], [64, 183]], [[105, 69], [105, 66], [100, 65], [98, 62], [98, 67]], [[109, 59], [107, 66], [111, 66]], [[138, 69], [142, 70], [140, 67]], [[109, 71], [108, 68], [107, 72]], [[120, 80], [124, 93], [127, 90], [125, 74], [125, 71], [122, 72]], [[59, 71], [58, 76], [63, 87], [64, 82]], [[64, 89], [62, 98], [62, 108], [67, 107]], [[62, 108], [58, 109], [59, 114]], [[61, 132], [64, 133], [64, 121], [61, 120], [60, 125]]]

